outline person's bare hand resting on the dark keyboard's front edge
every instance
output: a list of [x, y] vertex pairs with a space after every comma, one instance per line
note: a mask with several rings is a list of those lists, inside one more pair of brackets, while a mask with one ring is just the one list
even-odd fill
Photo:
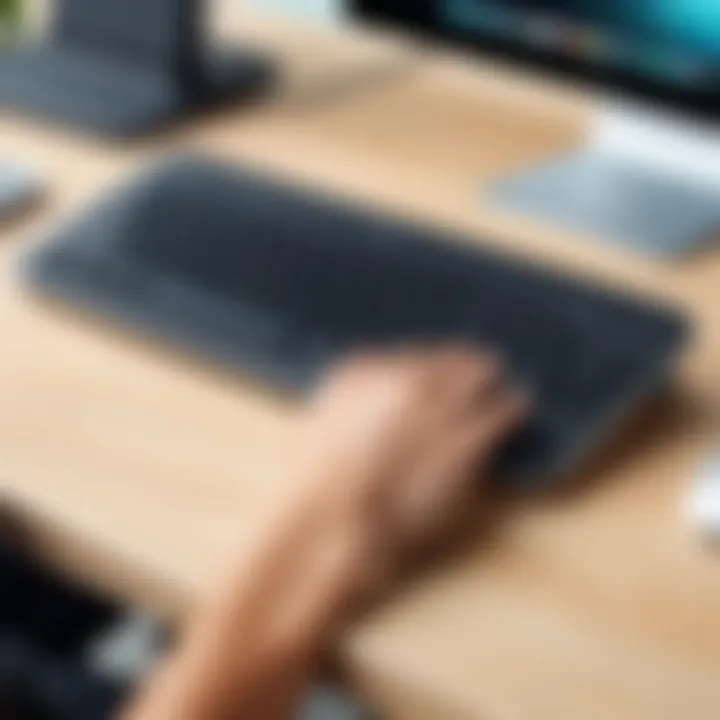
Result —
[[299, 491], [353, 535], [358, 577], [377, 584], [458, 524], [528, 410], [499, 360], [470, 347], [351, 358], [308, 409]]

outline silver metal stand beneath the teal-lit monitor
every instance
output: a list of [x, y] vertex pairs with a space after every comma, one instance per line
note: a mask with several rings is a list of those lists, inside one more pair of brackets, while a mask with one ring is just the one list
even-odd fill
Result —
[[587, 144], [490, 189], [504, 209], [657, 256], [720, 237], [720, 132], [608, 105]]

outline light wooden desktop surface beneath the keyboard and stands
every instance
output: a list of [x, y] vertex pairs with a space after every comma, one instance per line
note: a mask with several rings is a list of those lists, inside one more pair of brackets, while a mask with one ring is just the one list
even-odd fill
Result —
[[32, 238], [102, 187], [159, 150], [201, 148], [688, 309], [698, 335], [678, 399], [588, 469], [584, 489], [517, 501], [489, 546], [400, 592], [344, 654], [399, 720], [720, 717], [720, 562], [680, 513], [720, 417], [720, 253], [658, 266], [478, 206], [478, 182], [580, 136], [579, 95], [385, 38], [224, 24], [239, 25], [288, 66], [264, 107], [135, 146], [0, 118], [0, 155], [35, 162], [51, 189], [42, 212], [0, 230], [0, 483], [44, 551], [181, 613], [282, 492], [292, 408], [37, 305], [15, 275]]

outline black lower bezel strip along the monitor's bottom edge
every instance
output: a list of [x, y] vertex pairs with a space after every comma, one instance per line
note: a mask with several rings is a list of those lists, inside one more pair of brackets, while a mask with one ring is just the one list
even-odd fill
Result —
[[520, 42], [499, 39], [490, 34], [477, 31], [463, 32], [439, 27], [432, 20], [399, 12], [390, 12], [383, 7], [383, 0], [349, 0], [352, 16], [364, 22], [391, 25], [440, 40], [459, 44], [465, 48], [482, 52], [514, 62], [551, 72], [557, 76], [581, 80], [593, 87], [631, 95], [636, 99], [650, 101], [654, 105], [663, 105], [674, 112], [690, 113], [703, 120], [720, 119], [720, 65], [718, 67], [717, 93], [692, 91], [622, 69], [599, 67], [589, 62], [568, 58], [562, 53], [543, 52]]

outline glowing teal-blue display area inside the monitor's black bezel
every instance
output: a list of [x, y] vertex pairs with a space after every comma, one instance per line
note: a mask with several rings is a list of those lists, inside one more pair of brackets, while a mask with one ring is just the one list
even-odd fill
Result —
[[455, 29], [720, 89], [720, 0], [443, 0], [441, 8]]

